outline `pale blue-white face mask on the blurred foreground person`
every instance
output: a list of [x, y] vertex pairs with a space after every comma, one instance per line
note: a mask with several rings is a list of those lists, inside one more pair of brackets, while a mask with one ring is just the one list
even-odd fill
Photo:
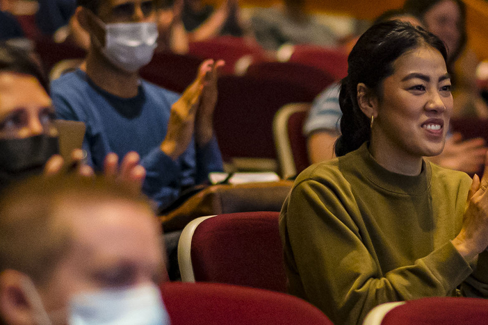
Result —
[[[53, 325], [32, 281], [24, 290], [38, 312], [39, 325]], [[77, 294], [70, 301], [70, 325], [170, 325], [156, 285]]]

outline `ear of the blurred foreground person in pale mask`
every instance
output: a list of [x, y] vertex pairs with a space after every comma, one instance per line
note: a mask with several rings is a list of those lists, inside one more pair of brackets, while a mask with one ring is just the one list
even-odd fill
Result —
[[8, 325], [37, 325], [35, 309], [22, 290], [24, 279], [24, 274], [13, 269], [0, 274], [0, 316]]

